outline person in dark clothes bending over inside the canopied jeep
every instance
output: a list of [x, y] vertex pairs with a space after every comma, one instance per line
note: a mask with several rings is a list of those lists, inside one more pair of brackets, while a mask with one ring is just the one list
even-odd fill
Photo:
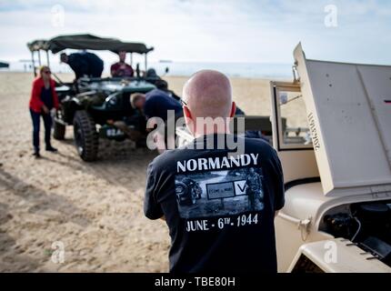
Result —
[[75, 72], [75, 78], [79, 79], [83, 76], [86, 77], [100, 77], [103, 72], [102, 59], [92, 53], [81, 52], [66, 55], [65, 53], [60, 55], [60, 61], [68, 64]]

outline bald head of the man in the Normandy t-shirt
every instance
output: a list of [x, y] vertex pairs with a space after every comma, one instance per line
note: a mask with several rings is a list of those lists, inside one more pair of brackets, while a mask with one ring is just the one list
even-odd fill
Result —
[[227, 118], [235, 115], [232, 87], [226, 75], [203, 70], [192, 75], [185, 83], [183, 94], [184, 114], [187, 127], [193, 134], [204, 128], [195, 128], [196, 119], [210, 117]]

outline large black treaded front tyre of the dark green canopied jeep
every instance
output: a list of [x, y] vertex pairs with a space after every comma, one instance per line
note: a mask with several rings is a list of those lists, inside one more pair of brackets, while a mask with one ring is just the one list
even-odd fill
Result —
[[85, 110], [76, 111], [74, 135], [77, 153], [85, 162], [96, 160], [99, 137], [95, 121]]

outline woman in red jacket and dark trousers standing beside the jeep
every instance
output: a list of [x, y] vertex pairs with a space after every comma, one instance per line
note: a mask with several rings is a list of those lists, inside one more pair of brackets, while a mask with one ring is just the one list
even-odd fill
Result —
[[56, 152], [50, 144], [50, 132], [52, 129], [52, 116], [50, 111], [58, 108], [58, 97], [55, 93], [55, 80], [51, 78], [52, 73], [48, 66], [42, 66], [39, 76], [33, 82], [33, 90], [30, 98], [30, 114], [33, 120], [33, 145], [34, 156], [39, 155], [39, 122], [44, 119], [46, 151]]

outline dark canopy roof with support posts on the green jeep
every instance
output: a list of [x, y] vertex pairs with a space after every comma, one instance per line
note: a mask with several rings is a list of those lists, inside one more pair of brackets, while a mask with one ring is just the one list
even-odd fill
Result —
[[133, 65], [133, 53], [145, 55], [145, 71], [147, 69], [146, 55], [154, 50], [154, 47], [146, 47], [142, 43], [125, 43], [116, 38], [99, 37], [95, 35], [59, 35], [49, 40], [38, 39], [27, 44], [28, 49], [31, 52], [31, 58], [35, 71], [35, 53], [38, 55], [38, 65], [42, 65], [41, 51], [46, 53], [46, 64], [49, 63], [49, 51], [52, 54], [57, 54], [65, 50], [66, 48], [80, 49], [80, 50], [98, 50], [98, 51], [111, 51], [118, 53], [125, 51], [130, 53], [131, 65]]

